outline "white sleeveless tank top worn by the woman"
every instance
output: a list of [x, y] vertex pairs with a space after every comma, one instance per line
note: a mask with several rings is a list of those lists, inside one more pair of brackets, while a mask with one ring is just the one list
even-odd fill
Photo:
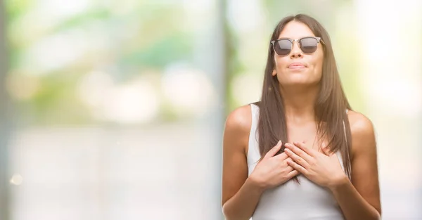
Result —
[[[251, 104], [250, 108], [252, 110], [252, 127], [249, 134], [247, 156], [248, 175], [252, 173], [257, 161], [261, 158], [256, 132], [260, 114], [259, 107]], [[340, 151], [335, 154], [344, 171]], [[298, 179], [300, 184], [290, 180], [281, 186], [264, 191], [252, 215], [252, 220], [345, 219], [330, 190], [309, 181], [303, 175], [298, 175]]]

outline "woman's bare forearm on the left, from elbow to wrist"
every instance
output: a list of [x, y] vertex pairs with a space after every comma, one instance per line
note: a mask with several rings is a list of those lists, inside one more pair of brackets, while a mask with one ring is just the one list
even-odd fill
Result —
[[246, 179], [238, 192], [223, 205], [226, 220], [248, 220], [252, 216], [263, 189]]

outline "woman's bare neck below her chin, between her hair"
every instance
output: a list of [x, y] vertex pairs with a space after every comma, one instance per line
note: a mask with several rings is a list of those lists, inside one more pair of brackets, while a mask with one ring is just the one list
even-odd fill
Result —
[[280, 86], [286, 119], [294, 123], [315, 121], [314, 104], [318, 96], [319, 86]]

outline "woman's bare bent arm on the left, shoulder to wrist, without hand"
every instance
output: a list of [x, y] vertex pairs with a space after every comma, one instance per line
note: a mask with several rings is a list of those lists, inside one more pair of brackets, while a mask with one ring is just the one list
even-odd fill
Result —
[[231, 112], [224, 127], [222, 210], [226, 220], [250, 219], [263, 192], [248, 179], [250, 117], [250, 106], [243, 106]]

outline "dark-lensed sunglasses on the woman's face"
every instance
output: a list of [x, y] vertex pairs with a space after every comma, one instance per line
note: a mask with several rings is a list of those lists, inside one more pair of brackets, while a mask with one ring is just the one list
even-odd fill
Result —
[[300, 50], [307, 54], [314, 53], [320, 41], [324, 44], [321, 37], [302, 37], [300, 39], [276, 39], [275, 41], [271, 41], [271, 46], [277, 55], [287, 56], [292, 51], [294, 41], [298, 41]]

